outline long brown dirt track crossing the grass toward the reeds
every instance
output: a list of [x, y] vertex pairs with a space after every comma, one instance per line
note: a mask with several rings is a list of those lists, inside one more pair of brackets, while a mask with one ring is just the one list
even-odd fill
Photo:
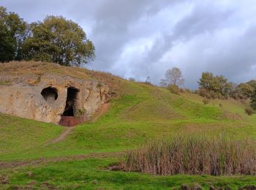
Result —
[[97, 158], [107, 158], [107, 157], [118, 157], [123, 156], [125, 152], [112, 152], [112, 153], [90, 153], [87, 155], [78, 156], [68, 156], [68, 157], [56, 157], [56, 158], [41, 158], [36, 160], [28, 161], [0, 161], [0, 170], [14, 167], [26, 167], [29, 165], [40, 165], [47, 164], [49, 162], [59, 162], [59, 161], [72, 161], [72, 160], [83, 160], [83, 159], [97, 159]]

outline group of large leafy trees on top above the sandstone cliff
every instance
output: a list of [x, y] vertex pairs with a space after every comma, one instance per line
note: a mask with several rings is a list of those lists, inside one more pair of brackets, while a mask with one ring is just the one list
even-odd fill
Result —
[[83, 29], [62, 16], [26, 23], [0, 7], [0, 62], [34, 60], [64, 66], [87, 64], [95, 58], [94, 44]]

